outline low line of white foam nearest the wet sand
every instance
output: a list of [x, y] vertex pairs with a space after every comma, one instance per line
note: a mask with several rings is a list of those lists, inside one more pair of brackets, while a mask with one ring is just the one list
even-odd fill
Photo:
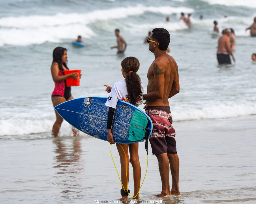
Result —
[[[143, 109], [143, 106], [144, 105], [140, 105], [139, 108]], [[221, 119], [256, 114], [256, 105], [233, 103], [230, 105], [205, 106], [203, 108], [177, 106], [172, 108], [171, 112], [174, 121]], [[49, 133], [50, 135], [53, 123], [54, 119], [22, 119], [21, 115], [15, 118], [3, 119], [0, 120], [0, 136], [31, 135], [39, 133]], [[66, 121], [63, 121], [60, 136], [70, 135], [72, 135], [71, 126]]]

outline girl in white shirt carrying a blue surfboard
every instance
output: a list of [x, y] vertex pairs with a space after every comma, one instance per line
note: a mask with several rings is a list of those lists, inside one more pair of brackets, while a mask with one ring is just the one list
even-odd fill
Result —
[[[124, 79], [113, 84], [113, 87], [106, 86], [106, 91], [110, 93], [108, 100], [105, 106], [108, 106], [108, 142], [110, 144], [114, 144], [115, 141], [112, 135], [112, 123], [115, 114], [115, 108], [118, 100], [124, 100], [126, 102], [131, 103], [134, 106], [138, 106], [142, 103], [142, 96], [144, 91], [144, 86], [140, 82], [140, 77], [136, 74], [139, 70], [140, 62], [135, 57], [126, 57], [122, 62], [122, 74]], [[122, 147], [125, 151], [122, 149]], [[127, 165], [127, 178], [129, 180], [129, 155], [128, 155], [128, 147], [130, 152], [130, 161], [133, 168], [133, 180], [134, 180], [134, 194], [133, 197], [139, 192], [140, 189], [140, 161], [138, 155], [139, 144], [116, 144], [116, 148], [118, 150], [120, 161], [121, 161], [121, 181], [125, 189], [121, 189], [121, 200], [128, 200], [128, 190], [127, 182], [126, 182], [126, 165]], [[126, 155], [126, 158], [125, 158]], [[127, 163], [126, 163], [127, 161]], [[135, 197], [139, 199], [139, 194]]]

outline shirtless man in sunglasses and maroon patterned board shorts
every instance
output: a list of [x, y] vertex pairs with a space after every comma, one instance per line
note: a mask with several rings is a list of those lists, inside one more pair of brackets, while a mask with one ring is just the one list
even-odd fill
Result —
[[[158, 159], [162, 181], [162, 191], [158, 197], [180, 194], [179, 158], [176, 151], [175, 130], [172, 127], [168, 98], [179, 93], [178, 66], [173, 57], [166, 54], [170, 43], [170, 34], [163, 28], [155, 28], [148, 39], [149, 50], [155, 60], [148, 69], [146, 113], [153, 122], [153, 131], [149, 137], [152, 153]], [[170, 190], [169, 173], [171, 168], [172, 188]]]

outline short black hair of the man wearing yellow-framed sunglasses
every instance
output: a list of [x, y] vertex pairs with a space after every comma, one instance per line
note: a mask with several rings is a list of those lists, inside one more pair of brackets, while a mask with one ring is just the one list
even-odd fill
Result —
[[152, 39], [159, 43], [160, 50], [167, 50], [170, 43], [170, 34], [164, 28], [155, 28], [152, 30]]

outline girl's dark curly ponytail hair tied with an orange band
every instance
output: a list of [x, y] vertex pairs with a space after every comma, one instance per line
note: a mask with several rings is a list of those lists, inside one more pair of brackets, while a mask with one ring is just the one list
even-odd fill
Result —
[[[128, 100], [134, 106], [142, 103], [142, 87], [140, 77], [136, 72], [139, 70], [140, 62], [136, 57], [126, 57], [121, 62], [121, 66], [127, 73], [125, 83], [128, 92]], [[130, 72], [132, 71], [132, 72]]]

